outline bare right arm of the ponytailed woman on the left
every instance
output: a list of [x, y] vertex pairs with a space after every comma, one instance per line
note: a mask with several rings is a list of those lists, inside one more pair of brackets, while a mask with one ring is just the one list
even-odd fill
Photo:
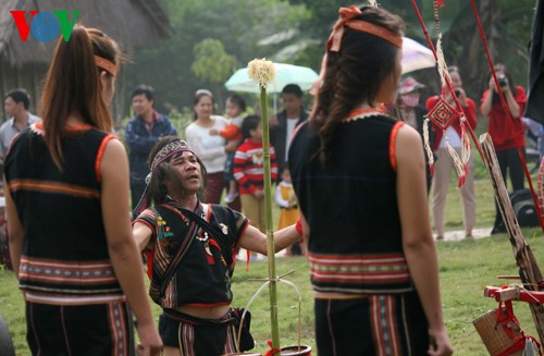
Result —
[[128, 213], [128, 161], [125, 148], [118, 139], [108, 143], [100, 172], [100, 202], [113, 270], [138, 320], [140, 343], [154, 355], [162, 342], [154, 328], [144, 284], [141, 257], [133, 238]]

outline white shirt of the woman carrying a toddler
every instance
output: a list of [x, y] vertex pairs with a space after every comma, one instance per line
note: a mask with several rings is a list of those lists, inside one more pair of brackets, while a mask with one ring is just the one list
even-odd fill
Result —
[[212, 115], [213, 125], [202, 127], [193, 122], [185, 128], [185, 137], [195, 154], [202, 160], [208, 173], [225, 170], [226, 152], [225, 139], [220, 135], [210, 135], [210, 130], [224, 130], [227, 121], [223, 116]]

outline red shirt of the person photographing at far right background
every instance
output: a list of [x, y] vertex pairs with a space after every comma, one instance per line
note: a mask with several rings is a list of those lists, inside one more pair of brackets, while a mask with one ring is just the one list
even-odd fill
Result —
[[[482, 97], [482, 102], [487, 97], [490, 90], [485, 90]], [[527, 96], [523, 87], [517, 85], [516, 94], [514, 95], [514, 99], [519, 105], [520, 115], [518, 118], [511, 118], [514, 123], [514, 133], [511, 132], [510, 124], [507, 121], [507, 115], [503, 110], [503, 106], [500, 101], [495, 102], [491, 107], [490, 112], [490, 123], [487, 125], [487, 133], [491, 135], [493, 140], [493, 145], [496, 150], [515, 148], [516, 147], [516, 138], [521, 147], [526, 146], [526, 128], [521, 122], [521, 114], [526, 109]]]

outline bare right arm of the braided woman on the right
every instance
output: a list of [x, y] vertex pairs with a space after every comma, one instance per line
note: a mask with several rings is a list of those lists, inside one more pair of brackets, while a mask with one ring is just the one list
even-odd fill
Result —
[[425, 162], [420, 135], [405, 125], [398, 133], [395, 151], [404, 253], [429, 322], [429, 334], [437, 345], [430, 354], [449, 355], [452, 345], [442, 312], [438, 261], [429, 223]]

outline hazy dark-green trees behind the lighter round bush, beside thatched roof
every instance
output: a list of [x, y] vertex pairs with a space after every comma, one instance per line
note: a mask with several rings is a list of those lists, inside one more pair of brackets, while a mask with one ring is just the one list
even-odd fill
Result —
[[[157, 107], [169, 111], [193, 107], [196, 89], [210, 85], [191, 70], [195, 61], [193, 48], [206, 38], [224, 45], [226, 53], [245, 66], [255, 58], [271, 58], [281, 45], [259, 45], [259, 41], [285, 28], [298, 28], [309, 12], [304, 5], [282, 0], [164, 0], [174, 35], [152, 48], [138, 50], [127, 67], [127, 88], [140, 83], [157, 90]], [[234, 69], [232, 69], [234, 72]], [[219, 98], [221, 93], [215, 89]]]

